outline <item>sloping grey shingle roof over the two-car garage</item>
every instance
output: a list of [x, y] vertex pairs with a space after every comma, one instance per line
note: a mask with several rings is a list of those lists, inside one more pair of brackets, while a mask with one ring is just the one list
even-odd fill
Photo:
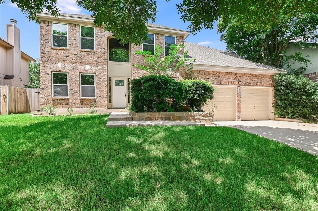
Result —
[[237, 54], [223, 50], [188, 42], [184, 42], [184, 45], [184, 49], [188, 50], [188, 57], [195, 58], [195, 61], [190, 62], [192, 64], [285, 71], [283, 69], [249, 61]]

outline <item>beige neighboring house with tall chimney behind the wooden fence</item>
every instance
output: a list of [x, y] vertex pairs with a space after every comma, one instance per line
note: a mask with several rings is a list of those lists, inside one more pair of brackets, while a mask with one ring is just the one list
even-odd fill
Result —
[[29, 61], [35, 60], [20, 49], [20, 30], [17, 21], [7, 24], [7, 40], [0, 38], [0, 85], [24, 88], [29, 85]]

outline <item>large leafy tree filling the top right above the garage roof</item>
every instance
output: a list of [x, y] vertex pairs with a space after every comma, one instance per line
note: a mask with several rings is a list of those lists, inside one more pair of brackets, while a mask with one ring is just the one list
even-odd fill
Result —
[[[313, 48], [311, 43], [318, 40], [316, 0], [184, 0], [177, 7], [193, 34], [212, 29], [219, 20], [218, 32], [228, 51], [273, 67], [281, 67], [290, 41]], [[293, 62], [292, 58], [300, 56], [286, 59]]]

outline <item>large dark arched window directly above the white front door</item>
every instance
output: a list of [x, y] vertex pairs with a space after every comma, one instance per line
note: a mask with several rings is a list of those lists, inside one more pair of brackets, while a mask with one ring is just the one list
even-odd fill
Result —
[[116, 38], [109, 39], [109, 61], [110, 62], [130, 62], [129, 43], [121, 45]]

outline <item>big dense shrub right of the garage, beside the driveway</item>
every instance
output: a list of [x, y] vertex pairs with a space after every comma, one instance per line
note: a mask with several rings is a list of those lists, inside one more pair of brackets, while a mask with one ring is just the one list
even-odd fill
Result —
[[318, 115], [318, 83], [302, 75], [274, 76], [275, 115], [287, 118]]

